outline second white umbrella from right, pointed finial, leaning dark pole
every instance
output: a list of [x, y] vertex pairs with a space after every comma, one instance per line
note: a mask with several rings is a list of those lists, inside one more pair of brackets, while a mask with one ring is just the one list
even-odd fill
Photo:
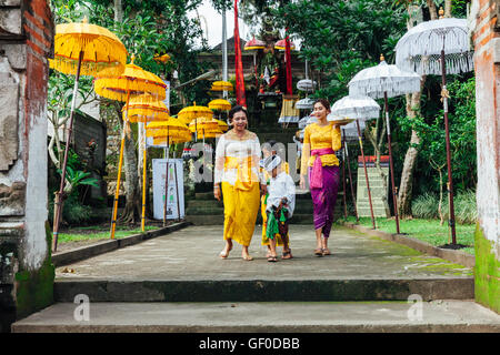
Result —
[[388, 98], [420, 91], [421, 78], [416, 72], [402, 71], [398, 67], [388, 65], [383, 55], [380, 64], [361, 70], [349, 81], [350, 95], [368, 95], [373, 99], [383, 98], [386, 109], [387, 144], [391, 170], [392, 202], [394, 207], [396, 231], [399, 234], [398, 200], [396, 196], [394, 164], [392, 161], [391, 129], [389, 120]]

